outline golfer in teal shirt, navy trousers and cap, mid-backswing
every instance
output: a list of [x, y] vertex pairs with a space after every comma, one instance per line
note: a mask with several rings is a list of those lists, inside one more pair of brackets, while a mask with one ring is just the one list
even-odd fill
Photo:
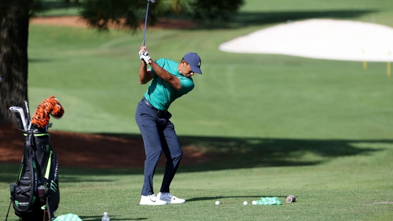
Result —
[[[139, 83], [151, 81], [142, 100], [138, 103], [135, 113], [140, 133], [143, 138], [146, 160], [144, 162], [144, 180], [140, 205], [164, 205], [167, 203], [184, 203], [186, 200], [177, 198], [169, 190], [170, 183], [180, 164], [183, 150], [169, 118], [170, 104], [187, 94], [194, 88], [191, 78], [194, 73], [202, 74], [200, 57], [189, 52], [180, 63], [160, 58], [153, 61], [146, 47], [140, 47]], [[151, 68], [147, 69], [147, 64]], [[167, 158], [164, 178], [160, 193], [153, 191], [153, 176], [161, 153]]]

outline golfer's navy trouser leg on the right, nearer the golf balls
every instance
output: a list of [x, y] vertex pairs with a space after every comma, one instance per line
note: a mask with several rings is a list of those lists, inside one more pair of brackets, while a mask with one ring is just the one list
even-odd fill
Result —
[[164, 179], [160, 192], [169, 193], [169, 186], [179, 167], [181, 157], [183, 156], [183, 150], [180, 147], [174, 126], [171, 122], [168, 123], [163, 132], [165, 137], [163, 151], [167, 158], [167, 164], [165, 165]]

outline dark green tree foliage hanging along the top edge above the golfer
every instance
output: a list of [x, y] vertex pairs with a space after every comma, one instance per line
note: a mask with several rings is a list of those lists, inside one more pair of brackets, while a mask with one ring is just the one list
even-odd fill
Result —
[[[81, 16], [100, 30], [109, 26], [131, 28], [140, 26], [147, 0], [65, 0], [81, 7]], [[191, 16], [200, 23], [223, 23], [237, 13], [244, 0], [156, 0], [149, 3], [149, 24], [166, 15]], [[141, 17], [142, 16], [142, 17]]]

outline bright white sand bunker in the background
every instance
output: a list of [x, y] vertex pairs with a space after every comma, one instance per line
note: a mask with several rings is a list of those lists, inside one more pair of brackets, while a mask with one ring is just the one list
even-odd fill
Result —
[[219, 48], [232, 53], [393, 61], [393, 28], [365, 22], [311, 19], [261, 29], [225, 42]]

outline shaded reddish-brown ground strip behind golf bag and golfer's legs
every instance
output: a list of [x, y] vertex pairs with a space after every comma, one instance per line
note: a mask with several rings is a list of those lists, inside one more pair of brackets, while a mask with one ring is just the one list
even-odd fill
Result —
[[[97, 168], [142, 168], [144, 147], [142, 139], [119, 138], [96, 134], [49, 131], [51, 144], [60, 166]], [[16, 126], [0, 127], [0, 164], [19, 164], [24, 150], [23, 131]], [[183, 147], [181, 165], [195, 165], [207, 157], [195, 148]], [[104, 160], [105, 159], [105, 160]], [[165, 165], [162, 155], [159, 166]]]

